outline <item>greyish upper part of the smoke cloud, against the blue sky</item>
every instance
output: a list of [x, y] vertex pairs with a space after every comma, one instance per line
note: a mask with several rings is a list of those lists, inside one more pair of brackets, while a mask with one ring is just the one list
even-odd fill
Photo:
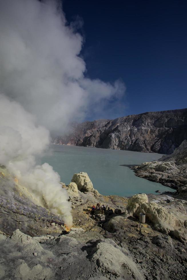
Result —
[[[0, 0], [1, 91], [50, 131], [63, 132], [125, 86], [84, 78], [83, 39], [56, 1]], [[102, 109], [102, 108], [101, 108]]]

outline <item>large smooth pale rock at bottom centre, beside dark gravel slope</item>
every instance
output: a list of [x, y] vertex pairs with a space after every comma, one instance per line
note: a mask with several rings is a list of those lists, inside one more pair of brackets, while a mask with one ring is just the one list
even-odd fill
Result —
[[127, 255], [128, 253], [121, 250], [114, 241], [106, 239], [98, 243], [96, 250], [92, 260], [104, 271], [123, 279], [143, 279], [136, 264]]

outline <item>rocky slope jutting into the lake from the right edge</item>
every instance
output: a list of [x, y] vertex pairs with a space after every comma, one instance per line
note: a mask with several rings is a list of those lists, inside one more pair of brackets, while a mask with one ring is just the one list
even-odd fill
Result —
[[[163, 156], [158, 161], [144, 162], [132, 169], [135, 170], [136, 176], [167, 187], [178, 189], [187, 185], [187, 140], [184, 140], [171, 155]], [[185, 187], [179, 190], [179, 193], [184, 194], [184, 198], [185, 190]]]

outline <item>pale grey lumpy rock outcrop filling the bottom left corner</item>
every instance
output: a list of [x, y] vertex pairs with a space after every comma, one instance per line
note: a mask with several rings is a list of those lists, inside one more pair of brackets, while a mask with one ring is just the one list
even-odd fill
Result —
[[45, 251], [37, 240], [17, 229], [11, 238], [7, 237], [0, 243], [1, 276], [3, 273], [3, 277], [8, 279], [52, 279], [53, 271], [47, 262], [53, 258], [53, 253]]

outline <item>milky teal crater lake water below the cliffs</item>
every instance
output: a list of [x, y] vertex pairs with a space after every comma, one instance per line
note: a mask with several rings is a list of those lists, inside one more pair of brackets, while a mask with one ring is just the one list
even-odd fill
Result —
[[68, 185], [74, 173], [87, 172], [93, 187], [102, 195], [132, 196], [136, 193], [155, 193], [156, 190], [174, 191], [159, 183], [136, 177], [129, 165], [139, 165], [145, 161], [153, 161], [162, 157], [156, 153], [139, 153], [51, 145], [41, 163], [49, 163]]

